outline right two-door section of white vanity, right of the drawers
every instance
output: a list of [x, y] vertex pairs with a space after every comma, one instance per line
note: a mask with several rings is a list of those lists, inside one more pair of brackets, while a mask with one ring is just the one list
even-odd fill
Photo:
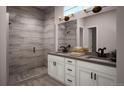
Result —
[[116, 69], [104, 65], [77, 61], [78, 86], [111, 86], [116, 85]]

